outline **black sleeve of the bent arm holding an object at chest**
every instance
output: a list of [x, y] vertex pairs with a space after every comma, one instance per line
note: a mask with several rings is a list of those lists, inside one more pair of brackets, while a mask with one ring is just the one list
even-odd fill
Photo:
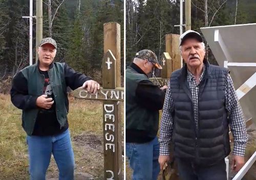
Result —
[[37, 108], [38, 96], [28, 94], [28, 83], [22, 72], [18, 72], [12, 80], [11, 101], [19, 109], [28, 110]]

